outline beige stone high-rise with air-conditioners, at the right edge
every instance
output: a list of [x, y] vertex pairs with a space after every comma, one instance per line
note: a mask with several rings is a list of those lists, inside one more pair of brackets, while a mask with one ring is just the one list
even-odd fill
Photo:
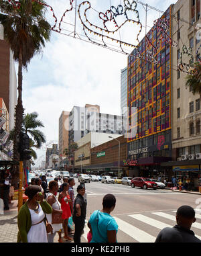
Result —
[[[201, 54], [200, 33], [195, 30], [201, 24], [200, 0], [179, 0], [172, 8], [172, 38], [178, 46], [172, 49], [172, 162], [164, 166], [172, 168], [173, 175], [188, 183], [188, 189], [198, 190], [201, 164], [201, 108], [200, 95], [186, 86], [184, 69], [190, 61], [197, 62], [196, 52]], [[201, 55], [200, 55], [201, 56]], [[182, 61], [182, 63], [181, 63]]]

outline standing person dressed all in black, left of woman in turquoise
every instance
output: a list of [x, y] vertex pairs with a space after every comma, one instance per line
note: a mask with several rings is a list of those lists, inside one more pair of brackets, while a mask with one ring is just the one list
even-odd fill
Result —
[[75, 224], [74, 243], [80, 243], [80, 238], [84, 230], [86, 218], [86, 200], [84, 200], [85, 188], [82, 185], [77, 187], [77, 196], [74, 201], [72, 220]]

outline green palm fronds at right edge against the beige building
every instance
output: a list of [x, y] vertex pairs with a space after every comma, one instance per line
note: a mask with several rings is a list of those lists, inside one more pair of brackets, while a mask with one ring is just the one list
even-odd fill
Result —
[[192, 93], [199, 93], [201, 98], [201, 63], [194, 63], [194, 71], [196, 71], [196, 73], [187, 75], [186, 85], [192, 86]]

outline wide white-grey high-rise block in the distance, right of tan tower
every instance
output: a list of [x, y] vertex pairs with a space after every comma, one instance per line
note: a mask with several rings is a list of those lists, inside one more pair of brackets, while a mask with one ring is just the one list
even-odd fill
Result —
[[89, 132], [123, 134], [123, 116], [102, 114], [98, 105], [74, 106], [69, 114], [69, 144]]

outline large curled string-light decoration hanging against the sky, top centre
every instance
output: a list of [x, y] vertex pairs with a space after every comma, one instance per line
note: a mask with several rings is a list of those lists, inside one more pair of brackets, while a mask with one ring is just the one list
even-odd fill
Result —
[[[123, 5], [118, 5], [117, 7], [111, 6], [111, 8], [105, 11], [105, 13], [103, 12], [98, 13], [99, 19], [101, 20], [101, 22], [103, 22], [102, 28], [96, 24], [92, 24], [88, 20], [88, 17], [87, 17], [88, 10], [92, 9], [89, 1], [84, 1], [80, 3], [78, 7], [78, 15], [80, 17], [80, 22], [82, 23], [82, 26], [83, 26], [84, 34], [86, 35], [86, 37], [90, 42], [93, 42], [94, 44], [97, 44], [99, 46], [107, 47], [107, 43], [105, 42], [105, 40], [109, 39], [113, 42], [117, 42], [121, 48], [121, 51], [127, 54], [127, 52], [125, 52], [125, 50], [123, 49], [123, 46], [129, 46], [129, 47], [135, 48], [137, 44], [139, 44], [139, 34], [141, 33], [141, 30], [142, 30], [142, 24], [139, 20], [139, 11], [137, 11], [136, 9], [137, 3], [135, 1], [131, 2], [129, 0], [124, 0], [123, 3], [124, 3], [124, 7]], [[83, 5], [85, 6], [85, 9], [84, 9], [85, 21], [83, 20], [81, 15], [81, 8]], [[136, 14], [137, 21], [134, 20], [133, 17], [130, 17], [130, 14], [131, 14], [130, 12], [132, 12], [133, 14], [134, 13]], [[125, 17], [125, 21], [119, 26], [117, 23], [117, 17], [120, 15]], [[139, 31], [136, 34], [137, 44], [129, 44], [127, 42], [124, 42], [112, 36], [112, 34], [115, 34], [115, 32], [118, 32], [127, 22], [132, 22], [133, 24], [139, 25]], [[108, 28], [109, 24], [111, 23], [115, 24], [114, 30], [109, 30]], [[90, 34], [94, 34], [95, 36], [99, 36], [103, 44], [98, 43], [95, 40], [92, 40], [88, 36], [88, 32]]]

